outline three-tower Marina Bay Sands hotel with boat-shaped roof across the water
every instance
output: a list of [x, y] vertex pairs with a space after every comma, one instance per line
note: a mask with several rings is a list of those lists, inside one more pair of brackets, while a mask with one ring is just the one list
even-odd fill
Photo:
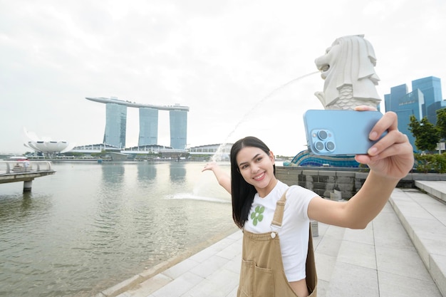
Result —
[[103, 143], [125, 148], [127, 127], [127, 108], [138, 108], [140, 115], [140, 133], [138, 146], [157, 145], [158, 111], [169, 111], [170, 147], [185, 150], [187, 144], [187, 112], [189, 107], [175, 105], [147, 105], [118, 100], [118, 98], [85, 98], [98, 103], [105, 103], [105, 132]]

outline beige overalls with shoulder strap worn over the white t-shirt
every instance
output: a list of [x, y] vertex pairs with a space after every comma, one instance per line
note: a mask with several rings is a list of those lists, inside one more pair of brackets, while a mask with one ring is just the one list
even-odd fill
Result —
[[[280, 227], [284, 217], [286, 192], [276, 204], [271, 225]], [[311, 224], [308, 226], [308, 254], [306, 256], [306, 284], [310, 297], [316, 297], [316, 265], [314, 263]], [[254, 234], [243, 231], [242, 269], [238, 297], [296, 297], [286, 279], [277, 232]], [[299, 296], [297, 296], [299, 297]]]

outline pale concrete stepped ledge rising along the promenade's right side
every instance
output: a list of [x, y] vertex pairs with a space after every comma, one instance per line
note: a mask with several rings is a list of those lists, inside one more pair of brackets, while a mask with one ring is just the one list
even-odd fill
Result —
[[442, 296], [446, 296], [446, 205], [415, 189], [395, 189], [390, 204]]

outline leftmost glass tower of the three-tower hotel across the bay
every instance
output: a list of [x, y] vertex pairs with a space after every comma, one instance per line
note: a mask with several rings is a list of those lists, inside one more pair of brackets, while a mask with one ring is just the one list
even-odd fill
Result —
[[106, 103], [103, 143], [124, 148], [126, 128], [127, 106], [116, 103]]

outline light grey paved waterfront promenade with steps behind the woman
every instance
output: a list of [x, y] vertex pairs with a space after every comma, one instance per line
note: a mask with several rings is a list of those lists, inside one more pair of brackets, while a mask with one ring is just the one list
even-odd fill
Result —
[[[446, 192], [446, 182], [417, 186], [422, 191], [395, 189], [363, 230], [318, 224], [318, 297], [446, 296], [446, 205], [432, 197]], [[141, 273], [96, 297], [235, 297], [241, 251], [237, 231], [150, 278]]]

